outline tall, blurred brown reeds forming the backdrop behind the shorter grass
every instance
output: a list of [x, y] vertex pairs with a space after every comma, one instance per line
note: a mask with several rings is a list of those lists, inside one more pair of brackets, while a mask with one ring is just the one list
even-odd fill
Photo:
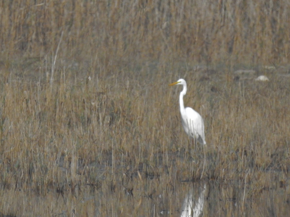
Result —
[[167, 70], [289, 65], [288, 1], [33, 0], [0, 7], [1, 67], [50, 60], [62, 32], [58, 67], [90, 76], [156, 63]]

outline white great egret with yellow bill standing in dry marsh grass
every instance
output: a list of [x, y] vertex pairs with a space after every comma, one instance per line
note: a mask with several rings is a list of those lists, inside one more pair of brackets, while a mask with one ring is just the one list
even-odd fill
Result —
[[202, 117], [192, 108], [184, 108], [183, 96], [186, 94], [187, 91], [186, 81], [184, 79], [179, 79], [177, 82], [169, 84], [169, 86], [173, 86], [175, 84], [183, 86], [183, 90], [180, 92], [179, 95], [179, 105], [181, 113], [181, 123], [184, 131], [187, 135], [193, 137], [200, 144], [205, 145], [206, 142], [204, 137], [204, 122]]

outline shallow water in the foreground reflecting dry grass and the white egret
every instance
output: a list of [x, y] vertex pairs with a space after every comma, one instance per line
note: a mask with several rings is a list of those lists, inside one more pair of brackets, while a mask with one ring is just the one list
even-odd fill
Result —
[[[2, 190], [6, 216], [289, 216], [290, 189], [265, 172], [267, 183], [244, 180], [180, 181], [172, 174], [103, 174], [94, 184], [35, 191]], [[82, 178], [81, 176], [76, 178]], [[245, 182], [245, 180], [247, 180]], [[265, 187], [266, 186], [266, 187]], [[196, 211], [195, 211], [196, 210]]]

